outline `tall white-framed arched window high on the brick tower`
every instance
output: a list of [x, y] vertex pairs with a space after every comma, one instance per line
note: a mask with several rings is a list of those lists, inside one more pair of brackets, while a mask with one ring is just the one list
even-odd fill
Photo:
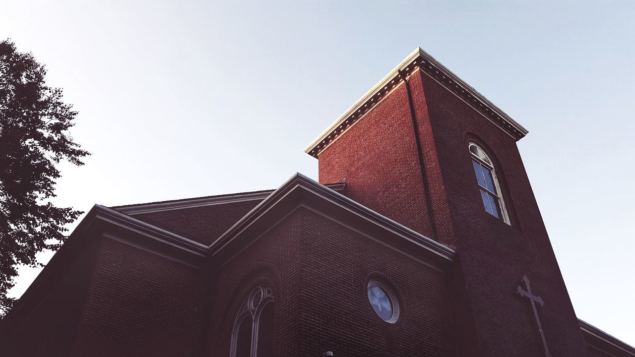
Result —
[[509, 224], [509, 217], [507, 217], [505, 203], [500, 193], [500, 185], [498, 185], [498, 180], [496, 179], [494, 164], [486, 152], [478, 145], [471, 143], [469, 150], [472, 154], [472, 165], [474, 166], [474, 173], [481, 191], [485, 211]]

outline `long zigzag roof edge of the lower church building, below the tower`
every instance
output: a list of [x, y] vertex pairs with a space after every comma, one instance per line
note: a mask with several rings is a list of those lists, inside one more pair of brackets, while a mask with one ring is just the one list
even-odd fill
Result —
[[[344, 183], [331, 184], [331, 186], [334, 189], [341, 190], [344, 188]], [[455, 252], [451, 248], [441, 245], [370, 210], [370, 208], [352, 201], [352, 199], [343, 196], [334, 189], [321, 185], [300, 173], [296, 173], [281, 187], [272, 191], [253, 210], [246, 213], [242, 219], [225, 231], [211, 245], [203, 245], [165, 229], [152, 226], [152, 224], [135, 219], [113, 208], [94, 205], [90, 212], [79, 222], [60, 250], [53, 255], [43, 271], [38, 274], [33, 283], [23, 293], [17, 304], [8, 311], [7, 316], [11, 320], [18, 318], [17, 315], [21, 316], [18, 320], [26, 318], [25, 311], [22, 309], [25, 303], [32, 301], [32, 299], [37, 299], [37, 296], [46, 295], [46, 291], [50, 288], [48, 286], [50, 285], [50, 280], [63, 276], [65, 269], [74, 260], [73, 258], [81, 255], [83, 250], [98, 237], [114, 238], [152, 252], [164, 252], [173, 257], [173, 259], [184, 262], [184, 264], [199, 266], [203, 264], [205, 259], [209, 259], [222, 250], [232, 239], [247, 231], [253, 224], [260, 222], [260, 218], [265, 213], [273, 211], [272, 208], [289, 209], [290, 206], [288, 205], [279, 205], [285, 198], [297, 199], [300, 195], [304, 196], [304, 198], [312, 198], [314, 203], [322, 201], [330, 205], [330, 208], [337, 206], [341, 208], [340, 212], [348, 212], [351, 217], [358, 217], [359, 220], [372, 225], [373, 229], [383, 230], [389, 234], [397, 234], [403, 237], [404, 241], [409, 243], [411, 247], [421, 248], [426, 252], [432, 253], [434, 257], [438, 257], [437, 261], [450, 262], [453, 259]], [[292, 208], [295, 209], [297, 206]], [[122, 232], [128, 232], [128, 234], [121, 234]], [[56, 276], [57, 278], [55, 278]], [[20, 323], [15, 320], [14, 322]]]

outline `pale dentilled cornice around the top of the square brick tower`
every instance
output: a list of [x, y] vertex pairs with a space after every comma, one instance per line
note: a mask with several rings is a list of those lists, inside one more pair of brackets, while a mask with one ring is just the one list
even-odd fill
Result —
[[436, 81], [443, 84], [445, 88], [471, 105], [471, 107], [489, 119], [498, 126], [498, 128], [514, 138], [514, 140], [520, 140], [528, 133], [522, 125], [505, 114], [505, 112], [490, 102], [488, 98], [485, 98], [485, 96], [472, 88], [472, 86], [465, 83], [464, 80], [447, 69], [445, 65], [439, 63], [438, 60], [434, 59], [434, 57], [419, 47], [384, 76], [379, 83], [375, 84], [375, 86], [353, 104], [348, 111], [324, 130], [318, 138], [313, 140], [313, 142], [304, 149], [304, 152], [317, 158], [328, 145], [337, 140], [342, 133], [357, 123], [364, 114], [371, 111], [386, 95], [391, 93], [396, 86], [402, 83], [404, 77], [410, 76], [410, 74], [415, 71], [422, 71], [436, 79]]

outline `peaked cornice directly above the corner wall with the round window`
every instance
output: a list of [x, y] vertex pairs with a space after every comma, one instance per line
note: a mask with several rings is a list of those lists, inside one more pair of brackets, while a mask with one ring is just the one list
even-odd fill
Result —
[[225, 248], [244, 248], [297, 208], [307, 208], [338, 220], [371, 239], [401, 252], [416, 256], [432, 266], [445, 266], [453, 260], [454, 250], [388, 219], [314, 180], [296, 173], [279, 189], [253, 208], [207, 249], [215, 256]]

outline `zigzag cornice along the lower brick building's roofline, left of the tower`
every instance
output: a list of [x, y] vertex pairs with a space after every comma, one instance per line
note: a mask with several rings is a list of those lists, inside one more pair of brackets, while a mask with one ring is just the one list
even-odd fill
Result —
[[255, 241], [262, 232], [300, 206], [316, 212], [327, 212], [331, 217], [335, 215], [367, 236], [389, 242], [386, 244], [402, 252], [425, 256], [424, 260], [431, 262], [432, 266], [438, 267], [452, 261], [454, 250], [338, 193], [344, 187], [345, 182], [329, 184], [327, 187], [297, 173], [211, 245], [197, 243], [112, 208], [95, 205], [8, 312], [4, 322], [12, 326], [20, 325], [41, 297], [46, 296], [64, 276], [76, 258], [98, 239], [115, 239], [192, 267], [201, 267], [227, 246], [241, 242], [248, 245]]

